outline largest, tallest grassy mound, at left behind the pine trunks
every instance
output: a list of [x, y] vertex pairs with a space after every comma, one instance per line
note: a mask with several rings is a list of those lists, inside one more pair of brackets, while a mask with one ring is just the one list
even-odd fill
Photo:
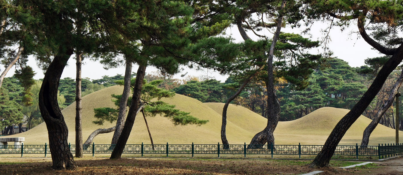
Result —
[[[83, 140], [85, 141], [89, 134], [98, 128], [110, 128], [114, 126], [106, 122], [103, 126], [93, 124], [95, 120], [93, 109], [96, 107], [114, 107], [112, 102], [112, 94], [121, 94], [123, 86], [112, 86], [95, 93], [91, 93], [83, 97]], [[166, 117], [156, 116], [147, 117], [150, 131], [156, 144], [216, 144], [221, 142], [221, 115], [213, 109], [203, 104], [202, 102], [186, 97], [183, 95], [175, 95], [173, 98], [164, 99], [165, 102], [176, 105], [178, 109], [190, 112], [191, 115], [200, 119], [208, 119], [209, 122], [203, 126], [187, 125], [174, 126]], [[62, 111], [67, 127], [69, 128], [69, 142], [75, 142], [75, 103], [69, 105]], [[253, 132], [228, 124], [229, 133], [234, 133], [229, 136], [234, 143], [248, 142], [253, 137]], [[44, 144], [48, 142], [48, 135], [45, 123], [42, 123], [31, 130], [16, 134], [13, 137], [25, 137], [25, 144]], [[96, 144], [110, 144], [113, 133], [100, 134], [93, 142]], [[150, 143], [147, 128], [141, 113], [137, 115], [133, 130], [130, 134], [128, 144], [145, 144]]]

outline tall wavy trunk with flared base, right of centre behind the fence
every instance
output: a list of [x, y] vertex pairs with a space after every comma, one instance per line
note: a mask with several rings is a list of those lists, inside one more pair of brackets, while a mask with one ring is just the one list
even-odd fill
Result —
[[[266, 90], [267, 90], [267, 126], [263, 131], [259, 132], [255, 136], [253, 136], [251, 142], [249, 144], [260, 144], [263, 145], [266, 142], [268, 144], [274, 144], [274, 135], [273, 132], [276, 129], [278, 124], [278, 119], [280, 118], [280, 103], [278, 103], [276, 90], [274, 89], [274, 75], [273, 75], [273, 56], [274, 56], [274, 47], [276, 46], [276, 42], [278, 36], [280, 35], [281, 25], [283, 24], [283, 15], [284, 15], [284, 6], [285, 0], [281, 3], [280, 11], [277, 19], [277, 28], [274, 33], [272, 44], [270, 45], [270, 50], [267, 59], [267, 79], [266, 79]], [[266, 139], [262, 139], [266, 137]]]

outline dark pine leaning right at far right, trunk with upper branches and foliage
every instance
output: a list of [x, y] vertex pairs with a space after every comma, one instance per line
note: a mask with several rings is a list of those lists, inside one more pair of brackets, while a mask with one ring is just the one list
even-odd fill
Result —
[[[310, 164], [310, 167], [324, 167], [329, 164], [330, 158], [344, 134], [370, 105], [386, 78], [403, 60], [403, 42], [399, 37], [399, 30], [397, 30], [403, 24], [403, 6], [394, 0], [309, 0], [307, 4], [309, 11], [305, 14], [309, 15], [309, 19], [323, 19], [323, 16], [327, 16], [325, 20], [339, 19], [341, 23], [338, 24], [340, 25], [348, 24], [346, 22], [351, 19], [357, 19], [357, 28], [361, 37], [380, 53], [391, 56], [382, 65], [366, 93], [334, 127], [322, 150]], [[368, 28], [374, 30], [372, 33], [374, 39], [366, 32], [366, 21], [370, 21], [369, 26], [374, 26]]]

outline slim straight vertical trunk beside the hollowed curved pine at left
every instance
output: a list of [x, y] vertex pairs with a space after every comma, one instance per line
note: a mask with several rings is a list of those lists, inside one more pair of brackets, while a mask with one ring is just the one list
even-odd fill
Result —
[[76, 117], [75, 117], [75, 131], [76, 131], [76, 157], [83, 157], [83, 130], [81, 127], [82, 109], [81, 104], [81, 53], [76, 53]]

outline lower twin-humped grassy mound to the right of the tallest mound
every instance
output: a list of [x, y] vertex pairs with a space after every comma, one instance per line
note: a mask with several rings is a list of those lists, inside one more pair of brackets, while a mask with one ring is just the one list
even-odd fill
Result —
[[[223, 103], [206, 103], [215, 111], [222, 113]], [[276, 144], [319, 144], [322, 145], [348, 109], [323, 107], [293, 121], [280, 121], [274, 131]], [[230, 105], [228, 121], [237, 124], [248, 131], [260, 132], [266, 127], [267, 119], [249, 111], [239, 105]], [[254, 121], [254, 122], [252, 122]], [[361, 115], [350, 127], [340, 142], [340, 145], [361, 144], [364, 129], [371, 119]], [[403, 139], [403, 132], [399, 132], [399, 140]], [[395, 130], [378, 124], [370, 137], [370, 145], [378, 143], [394, 143]]]

